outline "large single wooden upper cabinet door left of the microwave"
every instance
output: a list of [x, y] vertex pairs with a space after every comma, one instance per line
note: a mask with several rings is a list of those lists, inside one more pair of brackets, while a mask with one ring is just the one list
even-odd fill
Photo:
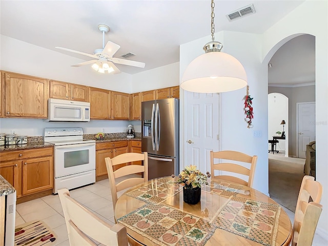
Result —
[[6, 116], [47, 118], [48, 81], [6, 73]]

